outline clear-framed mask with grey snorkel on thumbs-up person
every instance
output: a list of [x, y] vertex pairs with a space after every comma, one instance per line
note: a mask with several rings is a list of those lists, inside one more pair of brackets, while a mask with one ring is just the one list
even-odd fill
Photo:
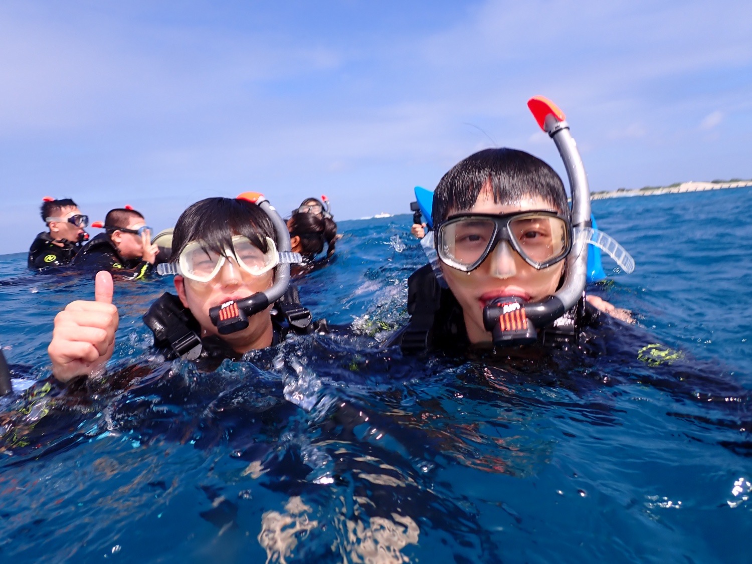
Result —
[[181, 274], [199, 282], [211, 280], [229, 259], [244, 271], [256, 276], [277, 267], [274, 284], [268, 290], [238, 301], [230, 300], [209, 310], [211, 323], [217, 326], [217, 331], [221, 335], [242, 331], [248, 326], [248, 317], [265, 310], [284, 296], [287, 287], [290, 286], [290, 264], [298, 264], [303, 260], [300, 253], [293, 253], [291, 250], [287, 224], [262, 194], [244, 192], [238, 199], [258, 205], [268, 215], [274, 225], [274, 231], [277, 232], [279, 251], [271, 238], [266, 239], [268, 250], [262, 253], [250, 244], [247, 238], [236, 235], [232, 238], [232, 250], [225, 249], [222, 255], [206, 253], [197, 241], [192, 241], [186, 245], [183, 253], [180, 253], [177, 263], [163, 262], [156, 267], [159, 274]]

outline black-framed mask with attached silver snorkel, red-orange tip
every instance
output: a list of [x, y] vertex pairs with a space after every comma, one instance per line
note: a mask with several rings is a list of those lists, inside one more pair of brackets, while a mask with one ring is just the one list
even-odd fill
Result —
[[[517, 296], [502, 296], [491, 300], [484, 308], [483, 320], [487, 331], [493, 335], [493, 344], [509, 346], [529, 344], [538, 339], [537, 329], [553, 323], [582, 298], [587, 284], [587, 245], [593, 244], [604, 250], [627, 273], [635, 268], [629, 253], [614, 239], [593, 229], [590, 220], [590, 187], [585, 168], [577, 150], [569, 123], [553, 102], [535, 96], [527, 102], [538, 126], [546, 132], [562, 156], [569, 186], [572, 192], [572, 226], [551, 212], [530, 211], [517, 214], [485, 216], [484, 214], [461, 214], [450, 218], [439, 227], [436, 242], [437, 252], [447, 265], [462, 271], [472, 271], [483, 262], [500, 239], [511, 247], [534, 268], [546, 268], [568, 257], [561, 287], [553, 296], [538, 302], [525, 302]], [[527, 223], [526, 223], [527, 222]], [[530, 223], [547, 225], [549, 234], [544, 236], [541, 247], [528, 244], [525, 234]], [[444, 229], [444, 237], [441, 235]], [[451, 235], [466, 231], [466, 242]], [[553, 235], [557, 233], [557, 235]], [[558, 233], [562, 236], [559, 237]], [[531, 241], [538, 239], [535, 235]], [[444, 241], [447, 241], [444, 247]]]

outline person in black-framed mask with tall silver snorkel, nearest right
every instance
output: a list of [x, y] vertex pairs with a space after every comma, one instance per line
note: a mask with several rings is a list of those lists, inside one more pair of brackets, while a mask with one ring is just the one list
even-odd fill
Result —
[[417, 352], [569, 341], [597, 318], [584, 300], [587, 243], [608, 236], [590, 227], [590, 192], [563, 115], [544, 99], [529, 105], [559, 135], [572, 209], [559, 175], [529, 153], [487, 149], [459, 162], [435, 190], [432, 265], [408, 280], [411, 320], [389, 344]]

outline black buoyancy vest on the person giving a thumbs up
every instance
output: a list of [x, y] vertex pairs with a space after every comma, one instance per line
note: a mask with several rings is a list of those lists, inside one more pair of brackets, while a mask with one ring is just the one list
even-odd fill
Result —
[[[164, 293], [154, 302], [143, 317], [144, 323], [154, 334], [154, 346], [164, 350], [168, 358], [181, 356], [195, 360], [202, 354], [238, 356], [232, 353], [220, 338], [201, 338], [201, 326], [190, 310], [180, 299], [171, 293]], [[328, 332], [325, 320], [314, 321], [311, 311], [304, 308], [298, 297], [298, 290], [291, 286], [287, 293], [274, 303], [271, 322], [274, 327], [274, 340], [277, 344], [287, 332], [305, 335], [311, 332]]]

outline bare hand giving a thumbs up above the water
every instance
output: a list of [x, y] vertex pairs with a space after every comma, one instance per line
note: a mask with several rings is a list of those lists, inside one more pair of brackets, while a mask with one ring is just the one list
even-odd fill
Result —
[[69, 303], [55, 317], [55, 329], [47, 354], [52, 373], [67, 382], [99, 371], [112, 356], [119, 317], [112, 305], [112, 275], [96, 274], [94, 302]]

